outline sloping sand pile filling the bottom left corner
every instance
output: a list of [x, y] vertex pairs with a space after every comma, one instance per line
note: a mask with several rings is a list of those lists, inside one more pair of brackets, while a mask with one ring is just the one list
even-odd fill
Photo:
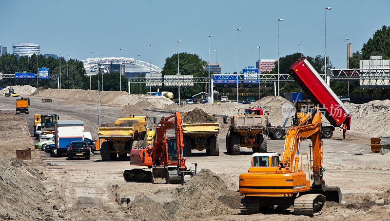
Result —
[[39, 181], [43, 179], [23, 161], [0, 157], [0, 219], [52, 220], [53, 208]]

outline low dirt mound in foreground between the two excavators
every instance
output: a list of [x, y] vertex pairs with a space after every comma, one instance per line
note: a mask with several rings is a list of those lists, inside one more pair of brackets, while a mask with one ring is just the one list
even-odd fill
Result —
[[233, 185], [233, 181], [202, 169], [176, 189], [137, 196], [128, 204], [127, 214], [135, 220], [201, 220], [231, 214], [232, 208], [239, 209], [241, 200]]

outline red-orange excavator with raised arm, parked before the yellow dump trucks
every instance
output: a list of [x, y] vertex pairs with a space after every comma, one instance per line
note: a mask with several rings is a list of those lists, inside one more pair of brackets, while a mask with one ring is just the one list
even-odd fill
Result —
[[[174, 121], [170, 119], [175, 118]], [[175, 137], [167, 137], [167, 131], [175, 129]], [[156, 126], [152, 146], [144, 149], [132, 149], [130, 165], [147, 166], [150, 169], [131, 169], [123, 172], [127, 182], [183, 183], [194, 176], [188, 170], [183, 157], [183, 130], [180, 113], [162, 118]]]

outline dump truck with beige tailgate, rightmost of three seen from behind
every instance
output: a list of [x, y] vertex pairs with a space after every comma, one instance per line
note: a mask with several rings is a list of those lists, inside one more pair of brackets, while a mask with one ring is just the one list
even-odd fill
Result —
[[[226, 150], [233, 155], [240, 154], [241, 147], [252, 148], [254, 153], [267, 152], [268, 117], [255, 114], [240, 114], [230, 118], [230, 126], [226, 135]], [[227, 123], [227, 116], [224, 123]]]

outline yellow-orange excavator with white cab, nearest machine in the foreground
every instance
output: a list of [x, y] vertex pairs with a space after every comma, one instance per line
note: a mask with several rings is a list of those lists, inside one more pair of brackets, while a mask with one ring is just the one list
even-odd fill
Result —
[[[341, 201], [340, 188], [326, 186], [323, 180], [321, 112], [314, 107], [312, 112], [297, 116], [298, 121], [287, 132], [281, 158], [276, 153], [253, 154], [248, 173], [240, 174], [239, 192], [245, 196], [240, 205], [242, 214], [293, 205], [294, 214], [313, 216], [325, 201]], [[310, 160], [307, 154], [299, 157], [301, 141], [309, 137]]]

